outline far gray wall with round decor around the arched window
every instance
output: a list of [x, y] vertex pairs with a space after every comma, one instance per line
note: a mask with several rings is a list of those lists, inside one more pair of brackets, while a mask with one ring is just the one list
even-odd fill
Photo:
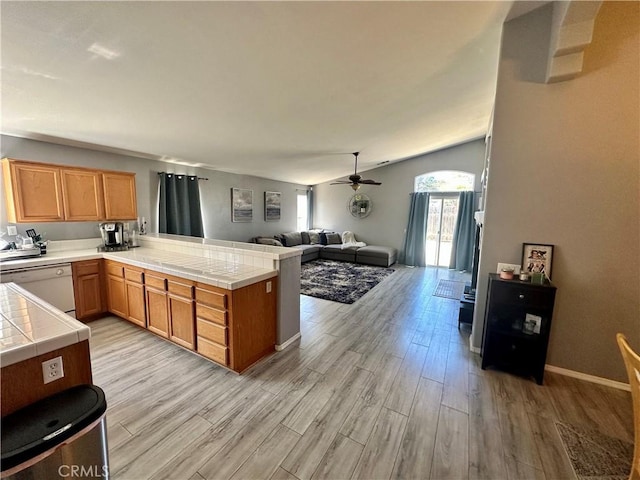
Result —
[[380, 186], [364, 185], [358, 190], [373, 202], [371, 214], [366, 218], [354, 218], [347, 210], [349, 199], [355, 193], [349, 185], [330, 185], [331, 182], [316, 185], [313, 187], [314, 227], [338, 232], [350, 230], [359, 241], [400, 250], [415, 177], [436, 170], [462, 170], [476, 175], [475, 190], [480, 191], [484, 154], [484, 139], [481, 139], [361, 172], [363, 178], [382, 182]]

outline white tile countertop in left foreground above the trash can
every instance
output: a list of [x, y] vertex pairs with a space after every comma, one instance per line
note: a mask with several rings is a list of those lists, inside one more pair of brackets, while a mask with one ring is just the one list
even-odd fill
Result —
[[3, 367], [88, 340], [91, 330], [13, 283], [0, 284]]

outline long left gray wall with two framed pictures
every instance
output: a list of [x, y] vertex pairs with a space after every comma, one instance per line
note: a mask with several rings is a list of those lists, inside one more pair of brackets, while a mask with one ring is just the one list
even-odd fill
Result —
[[[21, 160], [45, 163], [57, 163], [89, 168], [135, 172], [138, 199], [138, 215], [147, 218], [147, 228], [157, 232], [158, 172], [176, 172], [206, 177], [200, 181], [202, 212], [207, 238], [221, 240], [247, 241], [257, 235], [274, 235], [278, 232], [296, 228], [296, 191], [306, 190], [304, 185], [277, 182], [246, 175], [234, 175], [202, 168], [186, 167], [166, 162], [148, 160], [126, 155], [118, 155], [85, 148], [56, 145], [23, 138], [3, 135], [0, 155]], [[253, 190], [253, 222], [231, 222], [231, 188]], [[264, 221], [264, 192], [282, 192], [281, 220]], [[7, 225], [4, 194], [0, 208], [0, 225]], [[97, 223], [94, 222], [55, 222], [38, 224], [19, 224], [18, 231], [24, 235], [27, 228], [46, 232], [50, 240], [68, 240], [94, 238], [99, 236]]]

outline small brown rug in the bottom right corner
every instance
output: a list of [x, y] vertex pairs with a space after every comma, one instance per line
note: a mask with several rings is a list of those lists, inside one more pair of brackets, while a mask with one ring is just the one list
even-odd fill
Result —
[[631, 471], [633, 445], [587, 430], [556, 422], [556, 428], [578, 479], [626, 480]]

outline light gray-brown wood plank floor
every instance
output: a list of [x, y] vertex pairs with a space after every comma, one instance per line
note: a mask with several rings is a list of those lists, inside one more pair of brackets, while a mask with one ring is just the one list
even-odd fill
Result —
[[238, 376], [115, 317], [90, 324], [115, 479], [575, 478], [555, 421], [632, 438], [629, 393], [483, 371], [398, 271], [353, 305], [301, 297], [302, 339]]

